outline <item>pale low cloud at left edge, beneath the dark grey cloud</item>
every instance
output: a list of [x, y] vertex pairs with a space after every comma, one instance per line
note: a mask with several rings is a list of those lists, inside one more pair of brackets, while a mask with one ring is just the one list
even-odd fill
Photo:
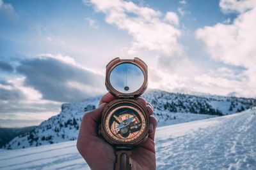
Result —
[[60, 113], [60, 106], [61, 103], [42, 99], [0, 100], [0, 124], [3, 127], [39, 125], [47, 118]]

